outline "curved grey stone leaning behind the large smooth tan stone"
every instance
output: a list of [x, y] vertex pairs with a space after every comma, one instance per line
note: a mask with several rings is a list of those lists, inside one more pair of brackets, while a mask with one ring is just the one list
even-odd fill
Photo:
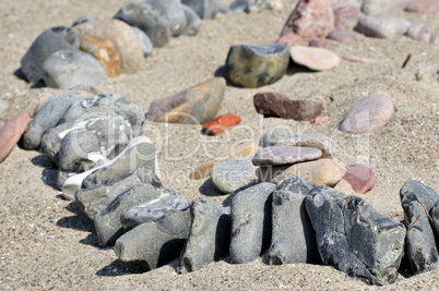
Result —
[[161, 48], [169, 43], [171, 33], [166, 17], [144, 0], [126, 4], [114, 17], [142, 29], [154, 47]]

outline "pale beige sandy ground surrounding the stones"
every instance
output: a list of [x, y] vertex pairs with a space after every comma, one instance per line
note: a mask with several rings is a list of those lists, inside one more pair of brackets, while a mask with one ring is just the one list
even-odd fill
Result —
[[[34, 106], [59, 90], [31, 88], [14, 75], [32, 41], [46, 28], [71, 25], [82, 14], [112, 16], [128, 1], [3, 0], [0, 1], [0, 99], [9, 108], [0, 113], [0, 125], [11, 116], [32, 111]], [[293, 3], [294, 4], [294, 3]], [[147, 111], [154, 99], [169, 96], [221, 75], [228, 48], [234, 44], [274, 41], [292, 8], [248, 14], [218, 15], [204, 21], [195, 37], [173, 38], [155, 49], [135, 75], [111, 78], [102, 92], [127, 96]], [[437, 15], [400, 12], [394, 16], [439, 27]], [[189, 172], [240, 141], [258, 142], [274, 126], [313, 132], [332, 137], [335, 156], [349, 165], [364, 162], [376, 172], [376, 186], [363, 195], [378, 210], [401, 220], [399, 190], [416, 179], [439, 190], [439, 47], [407, 37], [390, 40], [361, 38], [354, 44], [333, 43], [339, 54], [379, 60], [376, 64], [343, 61], [327, 72], [292, 66], [277, 83], [245, 89], [228, 86], [220, 113], [237, 113], [242, 123], [218, 137], [200, 134], [200, 126], [146, 122], [145, 134], [155, 142], [165, 186], [190, 198], [209, 196], [223, 203], [227, 196], [213, 191], [210, 181], [191, 181]], [[406, 56], [412, 59], [401, 69]], [[215, 73], [216, 72], [216, 73]], [[311, 126], [306, 122], [262, 119], [252, 97], [275, 90], [292, 98], [319, 100], [330, 120]], [[398, 109], [382, 130], [349, 135], [336, 130], [349, 107], [369, 94], [389, 96]], [[173, 265], [140, 274], [117, 260], [111, 248], [97, 247], [93, 223], [74, 203], [63, 201], [54, 184], [56, 169], [40, 154], [15, 148], [0, 165], [0, 289], [373, 289], [328, 266], [294, 264], [268, 266], [257, 260], [232, 265], [213, 263], [200, 271], [177, 275]], [[438, 288], [439, 270], [404, 278], [385, 290]]]

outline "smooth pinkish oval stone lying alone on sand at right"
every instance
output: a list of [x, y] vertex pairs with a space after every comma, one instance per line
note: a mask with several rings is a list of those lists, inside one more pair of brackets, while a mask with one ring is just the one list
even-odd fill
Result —
[[359, 99], [347, 111], [339, 130], [353, 134], [375, 132], [382, 129], [393, 114], [393, 104], [388, 97], [369, 95]]

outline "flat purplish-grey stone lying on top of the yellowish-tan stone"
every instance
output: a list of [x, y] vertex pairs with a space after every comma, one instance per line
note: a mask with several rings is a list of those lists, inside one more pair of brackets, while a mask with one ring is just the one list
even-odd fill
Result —
[[315, 147], [268, 146], [260, 149], [251, 160], [254, 166], [268, 167], [316, 160], [322, 151]]

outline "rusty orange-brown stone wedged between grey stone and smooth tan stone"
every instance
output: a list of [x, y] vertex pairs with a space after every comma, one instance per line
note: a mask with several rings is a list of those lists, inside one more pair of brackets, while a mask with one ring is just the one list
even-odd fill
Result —
[[86, 35], [81, 39], [80, 49], [98, 60], [108, 76], [115, 77], [122, 73], [120, 58], [111, 40], [104, 37]]

